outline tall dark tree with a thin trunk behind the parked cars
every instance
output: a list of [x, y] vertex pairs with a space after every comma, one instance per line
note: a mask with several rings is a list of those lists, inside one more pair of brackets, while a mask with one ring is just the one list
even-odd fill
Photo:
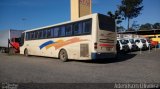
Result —
[[119, 6], [119, 11], [125, 19], [128, 19], [128, 29], [130, 27], [130, 19], [136, 18], [141, 10], [143, 0], [122, 0]]

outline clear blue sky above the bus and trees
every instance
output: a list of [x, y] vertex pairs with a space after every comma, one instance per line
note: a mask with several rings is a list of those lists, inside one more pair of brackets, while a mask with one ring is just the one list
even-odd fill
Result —
[[[92, 12], [114, 12], [121, 0], [92, 0]], [[143, 0], [137, 24], [160, 22], [160, 0]], [[0, 30], [29, 30], [70, 20], [70, 0], [0, 0]], [[120, 24], [127, 28], [127, 21]]]

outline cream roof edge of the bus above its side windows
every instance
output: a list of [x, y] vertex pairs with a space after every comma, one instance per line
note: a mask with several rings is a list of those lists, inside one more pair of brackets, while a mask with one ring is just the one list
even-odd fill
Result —
[[93, 18], [93, 16], [97, 16], [98, 14], [99, 13], [94, 13], [94, 14], [91, 14], [91, 15], [80, 17], [79, 19], [76, 19], [76, 20], [73, 20], [73, 21], [66, 21], [66, 22], [62, 22], [62, 23], [58, 23], [58, 24], [39, 27], [39, 28], [31, 29], [31, 30], [26, 30], [25, 32], [36, 31], [36, 30], [45, 29], [45, 28], [51, 28], [51, 27], [54, 27], [54, 26], [59, 26], [59, 25], [63, 25], [63, 24], [71, 23], [71, 22], [76, 22], [76, 21], [79, 21], [79, 20], [85, 20], [85, 19], [88, 19], [88, 18]]

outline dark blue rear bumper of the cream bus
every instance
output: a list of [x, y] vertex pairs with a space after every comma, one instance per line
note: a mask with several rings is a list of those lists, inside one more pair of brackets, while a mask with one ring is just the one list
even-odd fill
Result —
[[92, 60], [96, 60], [96, 59], [105, 59], [105, 58], [115, 58], [116, 57], [116, 53], [92, 53], [91, 57]]

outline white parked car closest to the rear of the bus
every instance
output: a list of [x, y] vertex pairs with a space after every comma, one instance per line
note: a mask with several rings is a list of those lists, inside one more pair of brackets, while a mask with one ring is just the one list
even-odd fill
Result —
[[127, 40], [117, 39], [117, 51], [118, 52], [128, 52], [129, 46], [127, 45]]

